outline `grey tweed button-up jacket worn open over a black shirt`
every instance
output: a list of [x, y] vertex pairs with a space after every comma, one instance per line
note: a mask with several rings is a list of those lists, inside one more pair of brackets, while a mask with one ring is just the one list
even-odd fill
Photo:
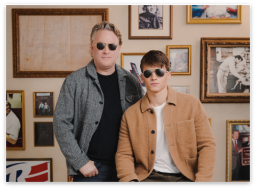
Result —
[[[115, 68], [124, 113], [142, 98], [143, 89], [130, 72], [117, 64]], [[69, 175], [79, 174], [79, 169], [90, 160], [86, 153], [101, 119], [102, 102], [103, 93], [92, 59], [65, 79], [54, 111], [54, 134], [66, 158]]]

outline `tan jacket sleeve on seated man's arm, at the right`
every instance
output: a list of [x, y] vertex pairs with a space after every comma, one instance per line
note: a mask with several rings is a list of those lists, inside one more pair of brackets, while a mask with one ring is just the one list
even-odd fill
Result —
[[198, 171], [195, 182], [212, 182], [216, 158], [215, 138], [207, 114], [198, 99], [194, 121], [198, 151]]

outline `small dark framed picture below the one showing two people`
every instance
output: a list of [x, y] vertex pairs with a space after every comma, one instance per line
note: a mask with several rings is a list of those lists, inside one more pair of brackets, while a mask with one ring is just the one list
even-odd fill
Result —
[[54, 146], [52, 122], [34, 122], [34, 146]]

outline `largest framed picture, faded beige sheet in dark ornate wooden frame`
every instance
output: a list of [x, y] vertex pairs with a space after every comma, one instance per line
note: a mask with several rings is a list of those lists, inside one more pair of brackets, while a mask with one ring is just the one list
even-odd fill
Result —
[[13, 77], [67, 77], [85, 67], [101, 21], [108, 9], [12, 9]]

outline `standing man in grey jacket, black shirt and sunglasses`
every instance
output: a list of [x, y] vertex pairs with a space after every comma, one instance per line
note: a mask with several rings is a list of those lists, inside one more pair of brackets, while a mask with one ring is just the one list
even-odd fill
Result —
[[117, 180], [115, 153], [122, 115], [143, 96], [139, 80], [115, 64], [121, 45], [114, 24], [96, 24], [91, 32], [93, 59], [61, 87], [53, 127], [74, 182]]

